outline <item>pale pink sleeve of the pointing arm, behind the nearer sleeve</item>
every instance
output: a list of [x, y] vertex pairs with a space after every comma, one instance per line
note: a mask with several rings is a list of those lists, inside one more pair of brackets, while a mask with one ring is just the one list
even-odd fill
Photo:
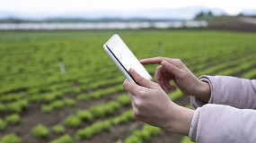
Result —
[[205, 104], [231, 105], [242, 109], [256, 109], [256, 80], [228, 76], [201, 76], [199, 80], [209, 83], [211, 97], [208, 103], [190, 97], [194, 108]]

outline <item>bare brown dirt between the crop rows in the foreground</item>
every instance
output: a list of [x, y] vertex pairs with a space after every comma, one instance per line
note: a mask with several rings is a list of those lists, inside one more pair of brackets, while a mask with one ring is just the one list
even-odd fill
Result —
[[[30, 106], [22, 112], [22, 120], [17, 125], [10, 125], [7, 127], [7, 129], [0, 132], [0, 137], [2, 137], [4, 134], [14, 132], [22, 139], [22, 143], [46, 143], [49, 142], [51, 139], [56, 139], [57, 135], [55, 135], [52, 131], [50, 133], [49, 139], [35, 139], [31, 134], [31, 129], [38, 123], [42, 123], [49, 128], [51, 128], [53, 125], [56, 124], [63, 124], [64, 119], [69, 114], [74, 114], [76, 110], [78, 109], [88, 109], [92, 105], [98, 105], [102, 103], [106, 103], [110, 100], [115, 99], [118, 97], [119, 94], [102, 97], [101, 99], [97, 100], [87, 100], [87, 101], [77, 101], [76, 105], [74, 107], [66, 107], [61, 110], [54, 111], [50, 114], [44, 114], [40, 110], [40, 106], [42, 104], [39, 103], [33, 103], [30, 104]], [[179, 105], [188, 105], [189, 104], [189, 97], [184, 97], [177, 101], [177, 104]], [[104, 119], [107, 119], [111, 116], [121, 114], [124, 111], [127, 111], [130, 109], [131, 106], [126, 106], [118, 110], [115, 114], [111, 114], [109, 116], [104, 117]], [[102, 119], [97, 119], [102, 120]], [[97, 121], [96, 120], [96, 121]], [[83, 126], [89, 125], [90, 122], [84, 122]], [[98, 143], [98, 142], [105, 142], [105, 143], [112, 143], [117, 142], [125, 139], [128, 137], [130, 131], [134, 128], [140, 128], [144, 123], [143, 122], [128, 122], [125, 124], [121, 124], [118, 126], [113, 127], [110, 131], [102, 132], [96, 136], [93, 137], [93, 139], [85, 139], [81, 141], [82, 143]], [[76, 130], [67, 129], [66, 133], [74, 135]], [[162, 133], [152, 138], [151, 140], [147, 140], [146, 142], [153, 143], [153, 142], [180, 142], [182, 139], [181, 135], [172, 134], [168, 131], [162, 131]]]

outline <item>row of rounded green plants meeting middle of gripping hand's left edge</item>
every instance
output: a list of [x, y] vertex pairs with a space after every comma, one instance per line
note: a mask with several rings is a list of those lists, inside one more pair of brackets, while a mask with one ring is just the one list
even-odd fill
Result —
[[[92, 122], [98, 117], [103, 117], [108, 114], [113, 114], [119, 108], [129, 105], [130, 100], [128, 95], [119, 96], [117, 100], [110, 101], [107, 104], [93, 105], [88, 110], [79, 110], [74, 115], [69, 115], [64, 119], [66, 127], [78, 128], [82, 122]], [[61, 121], [59, 121], [61, 122]], [[63, 125], [57, 124], [52, 128], [53, 132], [57, 135], [64, 134], [66, 129]], [[48, 127], [38, 124], [31, 130], [34, 137], [38, 139], [48, 139], [50, 130]]]

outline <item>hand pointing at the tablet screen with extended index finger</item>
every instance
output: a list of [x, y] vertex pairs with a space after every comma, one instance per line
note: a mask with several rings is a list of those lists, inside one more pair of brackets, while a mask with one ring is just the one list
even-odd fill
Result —
[[210, 87], [208, 83], [198, 80], [181, 60], [154, 57], [141, 60], [140, 63], [161, 64], [155, 70], [154, 80], [166, 93], [175, 89], [173, 85], [170, 85], [170, 80], [174, 80], [184, 94], [199, 97], [206, 102], [209, 100]]

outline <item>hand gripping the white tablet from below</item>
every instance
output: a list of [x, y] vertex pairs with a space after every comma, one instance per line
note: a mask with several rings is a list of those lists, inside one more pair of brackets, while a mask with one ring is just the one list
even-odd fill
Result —
[[165, 130], [188, 135], [194, 112], [174, 104], [157, 83], [146, 80], [134, 70], [129, 73], [139, 84], [129, 80], [123, 83], [130, 93], [135, 118]]

